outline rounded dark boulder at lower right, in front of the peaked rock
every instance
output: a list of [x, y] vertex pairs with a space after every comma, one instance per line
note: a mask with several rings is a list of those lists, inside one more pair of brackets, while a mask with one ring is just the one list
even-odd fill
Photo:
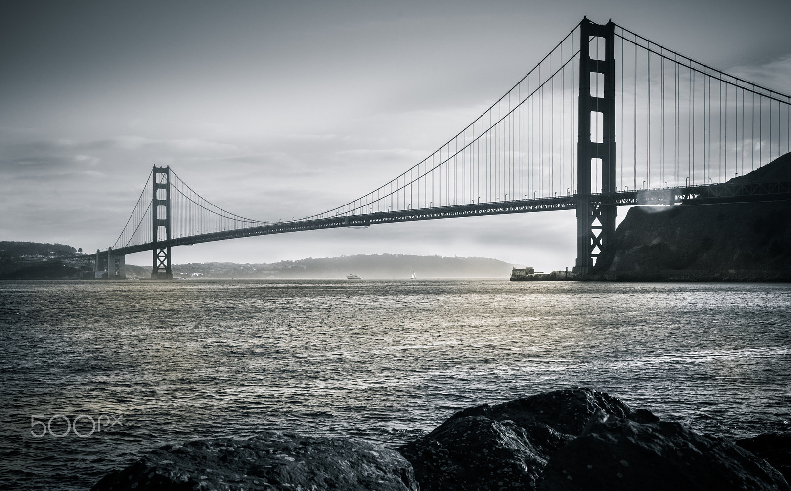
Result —
[[[604, 418], [602, 418], [604, 419]], [[782, 475], [743, 448], [678, 423], [595, 421], [559, 449], [541, 491], [788, 490]]]

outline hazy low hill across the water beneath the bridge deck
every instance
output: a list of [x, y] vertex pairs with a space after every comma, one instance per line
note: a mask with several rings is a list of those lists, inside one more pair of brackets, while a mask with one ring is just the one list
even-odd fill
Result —
[[204, 262], [176, 264], [174, 276], [204, 278], [505, 278], [511, 264], [498, 259], [459, 258], [439, 255], [345, 255], [260, 264]]

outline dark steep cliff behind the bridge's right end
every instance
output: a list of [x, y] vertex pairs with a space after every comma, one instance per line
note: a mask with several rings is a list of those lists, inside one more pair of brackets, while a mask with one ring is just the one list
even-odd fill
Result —
[[[791, 180], [791, 153], [729, 182]], [[791, 201], [636, 206], [596, 263], [618, 279], [791, 280]]]

